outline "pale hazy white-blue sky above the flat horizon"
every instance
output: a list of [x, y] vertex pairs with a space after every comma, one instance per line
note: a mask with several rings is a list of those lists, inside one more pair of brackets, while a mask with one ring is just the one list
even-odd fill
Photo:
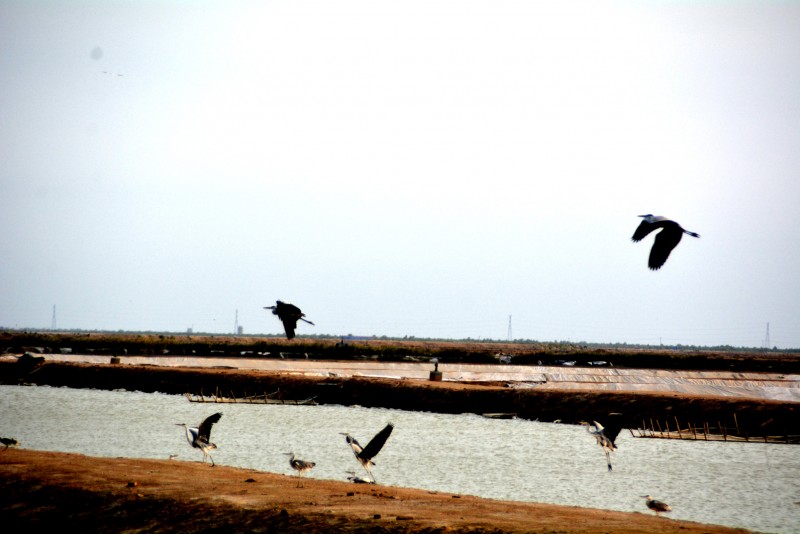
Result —
[[800, 347], [800, 3], [4, 0], [0, 225], [0, 327]]

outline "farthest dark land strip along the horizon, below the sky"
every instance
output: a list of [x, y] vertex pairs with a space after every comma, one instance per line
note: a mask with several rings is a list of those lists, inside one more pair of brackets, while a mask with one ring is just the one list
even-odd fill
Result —
[[284, 338], [263, 336], [0, 332], [0, 352], [108, 356], [223, 356], [315, 360], [601, 365], [640, 369], [800, 373], [800, 353], [690, 347], [592, 347], [573, 343]]

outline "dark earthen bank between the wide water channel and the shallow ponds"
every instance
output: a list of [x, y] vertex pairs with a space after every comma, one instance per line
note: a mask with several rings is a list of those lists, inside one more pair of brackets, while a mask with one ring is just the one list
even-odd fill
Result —
[[[438, 413], [506, 413], [539, 421], [578, 423], [617, 412], [628, 428], [672, 422], [726, 427], [749, 437], [800, 435], [800, 404], [680, 393], [517, 389], [499, 384], [383, 378], [302, 376], [236, 369], [144, 365], [0, 362], [0, 383], [126, 389], [244, 398], [280, 390], [285, 399], [313, 397], [319, 404], [360, 405]], [[673, 427], [674, 429], [674, 427]]]

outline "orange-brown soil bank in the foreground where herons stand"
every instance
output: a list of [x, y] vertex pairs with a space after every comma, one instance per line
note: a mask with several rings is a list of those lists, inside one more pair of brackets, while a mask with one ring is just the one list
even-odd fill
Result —
[[746, 532], [425, 490], [313, 480], [200, 462], [0, 452], [6, 532]]

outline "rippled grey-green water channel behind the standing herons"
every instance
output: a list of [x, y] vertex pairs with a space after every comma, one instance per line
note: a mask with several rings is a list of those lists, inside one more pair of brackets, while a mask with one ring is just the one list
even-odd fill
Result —
[[314, 478], [364, 475], [344, 437], [362, 445], [392, 421], [376, 458], [381, 484], [481, 497], [647, 512], [763, 532], [800, 532], [800, 447], [636, 439], [623, 433], [607, 472], [580, 426], [345, 406], [190, 403], [179, 395], [0, 386], [0, 435], [35, 450], [200, 461], [184, 431], [215, 411], [221, 465], [292, 474], [284, 452], [317, 462]]

